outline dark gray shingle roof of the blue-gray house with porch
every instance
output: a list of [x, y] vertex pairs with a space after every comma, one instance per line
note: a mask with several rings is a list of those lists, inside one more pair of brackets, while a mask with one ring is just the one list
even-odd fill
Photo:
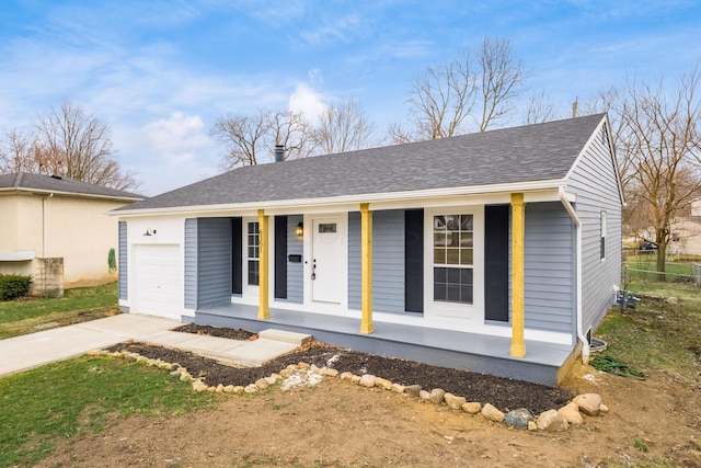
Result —
[[605, 114], [238, 168], [116, 212], [564, 180]]

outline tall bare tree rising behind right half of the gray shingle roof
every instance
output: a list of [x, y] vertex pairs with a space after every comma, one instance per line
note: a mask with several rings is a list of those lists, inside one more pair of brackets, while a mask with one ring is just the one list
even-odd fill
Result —
[[427, 67], [414, 79], [407, 99], [413, 130], [390, 127], [390, 137], [460, 135], [469, 129], [468, 117], [484, 132], [513, 111], [514, 98], [527, 77], [524, 64], [514, 57], [510, 41], [485, 37], [476, 53], [468, 49], [448, 64]]

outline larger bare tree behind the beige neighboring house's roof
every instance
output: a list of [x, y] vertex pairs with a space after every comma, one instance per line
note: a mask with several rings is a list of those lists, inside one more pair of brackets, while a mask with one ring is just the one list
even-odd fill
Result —
[[[43, 172], [118, 190], [136, 190], [134, 174], [112, 158], [110, 127], [79, 105], [66, 101], [39, 118], [38, 145], [46, 150]], [[46, 169], [44, 169], [46, 168]]]

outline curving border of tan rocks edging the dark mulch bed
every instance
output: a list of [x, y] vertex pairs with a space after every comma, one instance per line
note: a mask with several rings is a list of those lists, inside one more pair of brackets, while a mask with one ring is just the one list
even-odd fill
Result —
[[582, 393], [576, 396], [564, 407], [543, 411], [538, 416], [530, 414], [530, 412], [524, 408], [509, 411], [505, 414], [490, 403], [482, 406], [476, 401], [468, 401], [464, 397], [448, 393], [440, 388], [434, 388], [428, 391], [422, 389], [418, 385], [403, 386], [370, 374], [364, 374], [363, 376], [357, 376], [349, 372], [340, 374], [337, 369], [318, 367], [313, 364], [310, 365], [303, 362], [289, 365], [286, 368], [280, 369], [279, 373], [261, 378], [245, 387], [233, 385], [225, 386], [223, 384], [212, 387], [205, 384], [202, 379], [193, 377], [185, 367], [177, 363], [166, 363], [162, 359], [148, 358], [138, 353], [133, 353], [126, 350], [116, 352], [94, 350], [89, 352], [88, 355], [126, 358], [137, 363], [143, 363], [147, 366], [169, 370], [171, 376], [174, 378], [192, 383], [194, 391], [211, 391], [235, 395], [256, 393], [278, 383], [283, 385], [283, 389], [287, 389], [297, 385], [313, 386], [323, 377], [340, 377], [341, 380], [348, 380], [354, 385], [366, 388], [377, 387], [400, 395], [406, 395], [410, 398], [418, 398], [421, 401], [430, 402], [432, 404], [445, 404], [453, 411], [461, 411], [471, 415], [481, 414], [487, 421], [504, 423], [508, 427], [528, 431], [566, 431], [571, 425], [583, 424], [585, 422], [584, 415], [596, 418], [609, 412], [608, 407], [601, 402], [600, 395]]

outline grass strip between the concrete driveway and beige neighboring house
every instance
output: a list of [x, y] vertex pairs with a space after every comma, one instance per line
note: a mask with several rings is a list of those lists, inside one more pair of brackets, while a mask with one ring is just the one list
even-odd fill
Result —
[[36, 326], [74, 323], [118, 313], [117, 283], [66, 289], [60, 298], [0, 301], [0, 339], [36, 331]]

